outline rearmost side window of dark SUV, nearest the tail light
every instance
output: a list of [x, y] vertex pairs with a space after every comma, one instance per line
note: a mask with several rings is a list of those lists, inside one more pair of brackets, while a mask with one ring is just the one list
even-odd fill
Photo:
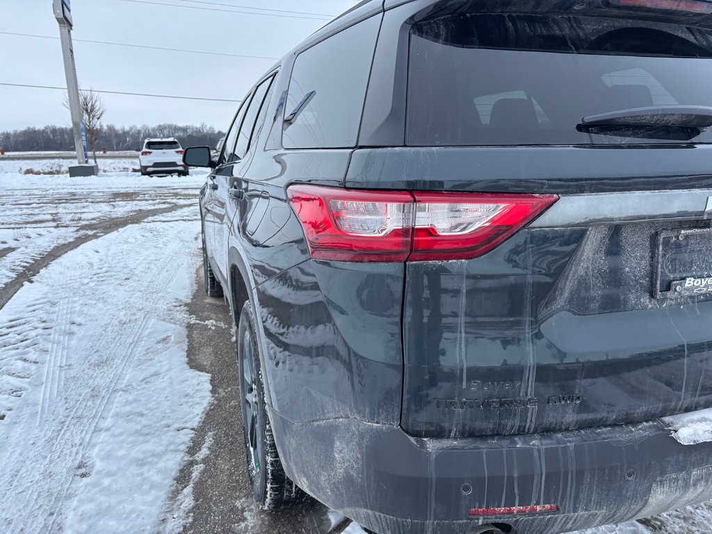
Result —
[[284, 147], [356, 146], [379, 21], [372, 16], [296, 58], [285, 105]]

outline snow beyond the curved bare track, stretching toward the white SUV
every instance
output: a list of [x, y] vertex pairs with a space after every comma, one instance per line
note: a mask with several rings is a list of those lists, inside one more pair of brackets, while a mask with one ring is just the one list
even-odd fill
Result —
[[[9, 163], [19, 172], [3, 171]], [[23, 174], [46, 166], [43, 160], [0, 162], [0, 289], [29, 263], [88, 234], [99, 221], [145, 209], [197, 205], [205, 177], [197, 171], [188, 177], [103, 171], [91, 179]], [[121, 160], [106, 160], [101, 168], [120, 166]]]

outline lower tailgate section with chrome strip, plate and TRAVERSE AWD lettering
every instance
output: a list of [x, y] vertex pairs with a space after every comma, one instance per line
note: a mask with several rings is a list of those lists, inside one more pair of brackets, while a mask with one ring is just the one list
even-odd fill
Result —
[[[409, 263], [404, 428], [520, 434], [712, 404], [708, 198], [562, 196], [486, 256]], [[627, 212], [604, 216], [615, 199]]]

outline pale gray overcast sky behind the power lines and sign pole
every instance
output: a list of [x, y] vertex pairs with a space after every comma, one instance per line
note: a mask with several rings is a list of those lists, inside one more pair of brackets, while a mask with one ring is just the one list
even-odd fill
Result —
[[[74, 52], [82, 88], [240, 100], [256, 78], [274, 63], [273, 59], [206, 56], [77, 40], [279, 58], [323, 26], [327, 20], [321, 19], [325, 17], [244, 8], [335, 16], [357, 4], [357, 0], [146, 1], [150, 3], [72, 1]], [[3, 8], [0, 32], [59, 36], [51, 0], [0, 0], [0, 4]], [[0, 50], [0, 82], [66, 86], [58, 39], [0, 33]], [[103, 99], [107, 108], [104, 122], [115, 125], [205, 122], [224, 130], [236, 110], [234, 103], [201, 100], [123, 95], [103, 95]], [[59, 90], [0, 85], [0, 131], [69, 125], [69, 112], [62, 103], [63, 92]]]

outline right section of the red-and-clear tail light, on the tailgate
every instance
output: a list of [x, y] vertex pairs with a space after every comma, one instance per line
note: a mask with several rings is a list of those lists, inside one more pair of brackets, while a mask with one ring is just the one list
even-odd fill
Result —
[[553, 204], [555, 195], [414, 193], [409, 261], [476, 258], [488, 253]]

